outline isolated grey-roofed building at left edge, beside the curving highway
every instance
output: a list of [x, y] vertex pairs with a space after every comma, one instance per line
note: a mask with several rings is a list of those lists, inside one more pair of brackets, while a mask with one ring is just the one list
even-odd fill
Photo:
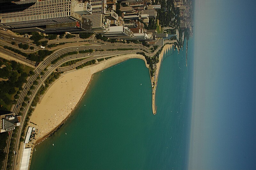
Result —
[[21, 125], [21, 116], [15, 116], [10, 111], [0, 110], [0, 133], [15, 129]]

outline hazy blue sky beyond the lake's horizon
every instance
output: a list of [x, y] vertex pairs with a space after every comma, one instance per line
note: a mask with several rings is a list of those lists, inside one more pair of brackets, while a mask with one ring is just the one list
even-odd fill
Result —
[[256, 1], [195, 0], [189, 169], [256, 167]]

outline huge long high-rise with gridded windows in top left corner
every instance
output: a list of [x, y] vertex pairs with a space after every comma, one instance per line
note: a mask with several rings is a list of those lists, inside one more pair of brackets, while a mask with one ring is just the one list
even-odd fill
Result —
[[81, 16], [74, 12], [76, 0], [24, 0], [14, 5], [1, 6], [0, 27], [31, 28], [45, 27], [81, 21]]

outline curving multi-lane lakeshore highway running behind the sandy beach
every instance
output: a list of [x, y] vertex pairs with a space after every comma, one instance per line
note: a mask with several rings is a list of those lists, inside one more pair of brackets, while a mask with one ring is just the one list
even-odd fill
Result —
[[[11, 38], [11, 36], [9, 37]], [[16, 39], [16, 38], [15, 38]], [[79, 38], [80, 39], [80, 38]], [[78, 40], [78, 37], [76, 37], [75, 39], [73, 39], [73, 41]], [[20, 41], [18, 39], [18, 41]], [[26, 40], [23, 40], [23, 43], [26, 43]], [[56, 40], [58, 41], [58, 40]], [[60, 40], [59, 40], [60, 41]], [[81, 41], [81, 39], [80, 39]], [[53, 43], [53, 41], [52, 41]], [[118, 49], [118, 48], [132, 48], [134, 50], [124, 50], [124, 51], [106, 51], [109, 49]], [[161, 48], [161, 47], [159, 47]], [[159, 49], [158, 48], [158, 49]], [[55, 64], [51, 64], [51, 62], [60, 57], [62, 54], [65, 54], [67, 52], [70, 51], [79, 51], [79, 50], [88, 50], [88, 49], [93, 49], [92, 53], [84, 53], [84, 54], [76, 54], [76, 55], [71, 55], [71, 56], [67, 56], [65, 58], [62, 58], [61, 60], [59, 60], [57, 63]], [[104, 51], [95, 51], [95, 50], [104, 50]], [[28, 97], [29, 98], [29, 103], [27, 104], [27, 106], [24, 107], [24, 110], [22, 111], [22, 116], [21, 116], [21, 126], [20, 128], [17, 129], [17, 137], [15, 139], [14, 142], [14, 149], [13, 151], [18, 152], [19, 151], [19, 145], [20, 145], [20, 135], [22, 132], [22, 128], [24, 126], [24, 122], [25, 119], [27, 117], [27, 113], [28, 113], [28, 109], [34, 99], [34, 97], [36, 96], [37, 91], [40, 89], [40, 87], [42, 86], [43, 82], [48, 78], [48, 76], [54, 71], [56, 70], [56, 68], [58, 68], [61, 64], [67, 62], [67, 61], [71, 61], [71, 60], [75, 60], [75, 59], [79, 59], [79, 58], [86, 58], [83, 61], [80, 61], [78, 63], [76, 63], [75, 65], [72, 66], [68, 66], [68, 67], [63, 67], [63, 70], [61, 70], [62, 68], [59, 69], [59, 71], [66, 71], [66, 70], [70, 70], [73, 68], [75, 68], [76, 66], [79, 66], [81, 64], [83, 64], [83, 62], [87, 62], [90, 61], [92, 59], [96, 59], [96, 58], [105, 58], [105, 57], [110, 57], [110, 56], [116, 56], [116, 55], [121, 55], [121, 54], [131, 54], [131, 53], [136, 53], [136, 52], [146, 52], [146, 54], [148, 56], [153, 56], [155, 52], [151, 53], [148, 48], [142, 46], [141, 44], [123, 44], [123, 43], [106, 43], [104, 42], [104, 44], [102, 44], [102, 41], [98, 42], [84, 42], [84, 43], [69, 43], [69, 44], [65, 44], [62, 46], [58, 46], [56, 48], [52, 48], [50, 50], [55, 50], [50, 56], [44, 58], [44, 61], [42, 61], [34, 70], [35, 74], [28, 77], [27, 78], [27, 82], [24, 83], [23, 87], [23, 91], [21, 91], [19, 99], [17, 100], [17, 104], [14, 104], [12, 106], [11, 111], [18, 113], [20, 112], [20, 106], [24, 101], [24, 97]], [[88, 55], [89, 54], [89, 55]], [[44, 71], [44, 69], [47, 68], [47, 71], [45, 72], [45, 74], [42, 76], [40, 75], [40, 73], [42, 71]], [[37, 76], [40, 76], [40, 79], [37, 80], [38, 84], [35, 86], [34, 89], [30, 89], [30, 87], [33, 85], [33, 82], [36, 80]], [[28, 91], [32, 92], [32, 95], [28, 96], [27, 93]], [[13, 154], [13, 157], [11, 158], [11, 160], [7, 160], [8, 158], [8, 151], [9, 151], [9, 146], [10, 146], [10, 142], [11, 142], [11, 136], [12, 136], [12, 132], [10, 133], [10, 136], [8, 138], [8, 145], [7, 145], [7, 149], [6, 149], [6, 159], [4, 162], [4, 169], [6, 169], [7, 166], [7, 161], [9, 162], [9, 164], [11, 165], [11, 169], [18, 169], [19, 167], [17, 167], [17, 160], [18, 160], [18, 155], [20, 156], [21, 153], [18, 152], [17, 155]], [[13, 152], [12, 151], [12, 152]]]

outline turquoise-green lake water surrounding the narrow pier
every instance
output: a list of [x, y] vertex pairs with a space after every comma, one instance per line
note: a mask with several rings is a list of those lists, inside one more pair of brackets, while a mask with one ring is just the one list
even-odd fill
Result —
[[165, 54], [156, 115], [143, 60], [96, 73], [67, 122], [36, 146], [30, 169], [186, 169], [193, 61], [186, 67], [185, 58]]

